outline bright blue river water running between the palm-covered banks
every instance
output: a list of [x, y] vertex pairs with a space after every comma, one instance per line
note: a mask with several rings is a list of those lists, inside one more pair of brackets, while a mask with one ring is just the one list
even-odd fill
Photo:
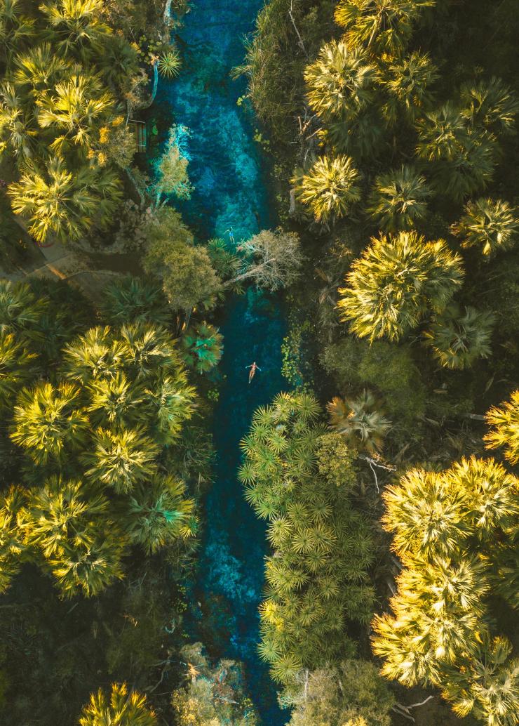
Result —
[[[254, 120], [236, 104], [244, 81], [229, 76], [243, 60], [243, 38], [253, 29], [261, 4], [198, 0], [180, 33], [184, 70], [175, 81], [162, 81], [157, 96], [157, 104], [169, 108], [175, 123], [191, 129], [189, 176], [195, 190], [180, 208], [199, 240], [229, 240], [232, 228], [238, 243], [275, 226], [260, 148], [253, 140]], [[263, 723], [281, 726], [287, 714], [278, 708], [268, 669], [257, 656], [265, 526], [247, 505], [236, 470], [238, 444], [252, 412], [283, 388], [285, 322], [279, 301], [255, 290], [228, 301], [217, 322], [225, 349], [213, 426], [216, 481], [207, 497], [207, 526], [186, 626], [213, 656], [244, 663]], [[246, 366], [254, 360], [262, 370], [249, 386]]]

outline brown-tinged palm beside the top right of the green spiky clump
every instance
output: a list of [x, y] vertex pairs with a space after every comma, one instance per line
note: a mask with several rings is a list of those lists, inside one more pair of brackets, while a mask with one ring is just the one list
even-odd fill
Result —
[[327, 408], [330, 428], [345, 436], [349, 444], [370, 453], [381, 449], [391, 423], [382, 415], [371, 391], [362, 391], [356, 399], [343, 400], [336, 396]]

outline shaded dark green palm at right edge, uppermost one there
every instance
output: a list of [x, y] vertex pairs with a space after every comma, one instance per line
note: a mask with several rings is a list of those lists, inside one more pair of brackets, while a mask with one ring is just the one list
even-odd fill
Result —
[[474, 129], [513, 133], [519, 101], [500, 78], [468, 83], [460, 95], [461, 113]]

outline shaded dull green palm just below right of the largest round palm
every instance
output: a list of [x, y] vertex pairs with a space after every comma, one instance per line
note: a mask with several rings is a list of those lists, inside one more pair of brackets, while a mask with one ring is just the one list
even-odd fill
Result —
[[488, 358], [491, 354], [494, 321], [495, 316], [489, 311], [481, 312], [469, 306], [462, 314], [458, 306], [452, 305], [433, 319], [424, 334], [425, 340], [442, 366], [470, 368], [478, 358]]

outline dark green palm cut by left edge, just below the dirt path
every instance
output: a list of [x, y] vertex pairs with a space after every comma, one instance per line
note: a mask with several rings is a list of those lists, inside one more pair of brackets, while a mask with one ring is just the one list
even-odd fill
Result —
[[34, 334], [46, 314], [49, 301], [36, 298], [27, 282], [0, 280], [0, 331], [2, 333]]

